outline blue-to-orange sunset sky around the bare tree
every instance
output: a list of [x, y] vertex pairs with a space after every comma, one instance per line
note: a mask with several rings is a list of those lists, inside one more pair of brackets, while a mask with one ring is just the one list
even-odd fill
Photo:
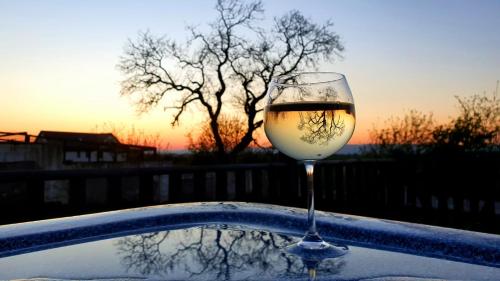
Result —
[[[186, 25], [215, 16], [214, 1], [0, 0], [0, 131], [92, 131], [104, 123], [160, 133], [171, 148], [202, 116], [178, 128], [161, 109], [138, 116], [120, 97], [116, 65], [128, 38], [150, 30], [180, 42]], [[351, 143], [410, 109], [444, 122], [455, 95], [492, 93], [500, 79], [500, 1], [264, 1], [266, 19], [291, 9], [331, 19], [346, 51], [320, 70], [344, 73], [356, 102]]]

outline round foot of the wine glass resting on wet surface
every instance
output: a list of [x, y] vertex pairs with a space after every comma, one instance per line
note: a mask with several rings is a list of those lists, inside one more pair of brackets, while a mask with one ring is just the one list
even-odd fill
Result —
[[302, 239], [298, 243], [286, 247], [286, 251], [305, 261], [321, 261], [343, 256], [347, 254], [349, 249], [347, 246], [337, 246], [323, 240], [307, 241]]

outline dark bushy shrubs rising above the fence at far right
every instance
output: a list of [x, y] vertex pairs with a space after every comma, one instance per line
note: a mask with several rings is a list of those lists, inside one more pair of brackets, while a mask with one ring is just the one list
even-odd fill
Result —
[[500, 151], [500, 101], [496, 96], [456, 99], [458, 116], [447, 124], [435, 125], [432, 114], [412, 110], [403, 119], [389, 119], [383, 129], [373, 129], [372, 152], [407, 155]]

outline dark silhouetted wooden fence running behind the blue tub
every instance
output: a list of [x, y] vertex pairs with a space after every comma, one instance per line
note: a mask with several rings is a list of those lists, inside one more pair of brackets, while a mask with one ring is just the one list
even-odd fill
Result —
[[[500, 233], [500, 165], [490, 160], [320, 162], [316, 206]], [[306, 197], [295, 163], [0, 172], [1, 223], [197, 201], [306, 207]]]

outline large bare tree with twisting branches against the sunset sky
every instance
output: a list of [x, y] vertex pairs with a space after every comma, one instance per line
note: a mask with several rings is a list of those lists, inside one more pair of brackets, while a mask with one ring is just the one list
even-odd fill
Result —
[[[192, 105], [206, 114], [215, 152], [236, 154], [254, 141], [262, 126], [262, 101], [271, 78], [314, 68], [343, 51], [332, 22], [318, 25], [298, 11], [274, 18], [270, 29], [258, 27], [260, 1], [218, 0], [210, 32], [190, 27], [185, 45], [149, 32], [129, 40], [118, 68], [125, 75], [121, 94], [136, 97], [137, 109], [160, 104], [173, 109], [172, 125]], [[174, 96], [176, 102], [167, 98]], [[241, 112], [245, 133], [231, 149], [223, 141], [223, 110]]]

